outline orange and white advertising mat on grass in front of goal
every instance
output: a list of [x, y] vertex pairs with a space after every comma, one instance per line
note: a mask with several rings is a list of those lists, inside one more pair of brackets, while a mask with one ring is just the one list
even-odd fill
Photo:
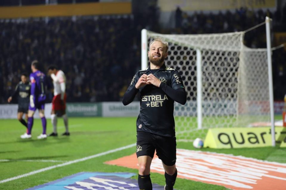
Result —
[[[136, 154], [105, 162], [138, 168]], [[229, 189], [285, 189], [286, 164], [228, 154], [177, 149], [178, 178], [225, 186]], [[154, 156], [151, 172], [164, 174], [161, 160]]]

